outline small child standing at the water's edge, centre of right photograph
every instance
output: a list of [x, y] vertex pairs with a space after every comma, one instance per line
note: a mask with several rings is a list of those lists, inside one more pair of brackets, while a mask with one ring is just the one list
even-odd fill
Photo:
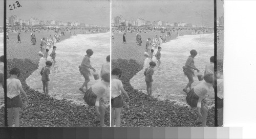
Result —
[[150, 67], [146, 68], [144, 71], [145, 81], [146, 81], [146, 92], [148, 96], [152, 95], [152, 82], [153, 82], [153, 74], [154, 74], [154, 67], [156, 66], [155, 62], [150, 62]]

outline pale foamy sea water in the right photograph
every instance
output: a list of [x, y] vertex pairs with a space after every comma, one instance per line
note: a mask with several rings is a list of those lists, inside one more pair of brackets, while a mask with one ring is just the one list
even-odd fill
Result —
[[[153, 61], [157, 66], [154, 68], [153, 75], [153, 96], [161, 100], [175, 101], [180, 105], [186, 104], [186, 93], [183, 88], [188, 83], [187, 76], [183, 73], [183, 66], [186, 63], [190, 50], [196, 49], [198, 54], [195, 57], [195, 66], [204, 72], [205, 66], [210, 63], [210, 57], [214, 55], [214, 34], [201, 35], [184, 35], [177, 39], [163, 43], [161, 45], [161, 65], [158, 66], [157, 60], [153, 57]], [[157, 49], [155, 49], [155, 53]], [[131, 80], [131, 85], [146, 93], [146, 83], [144, 71], [149, 67], [150, 60], [146, 59], [144, 67]], [[197, 71], [195, 71], [194, 83], [192, 87], [198, 85], [200, 81], [197, 78]], [[189, 91], [189, 88], [188, 90]], [[210, 89], [208, 96], [209, 103], [214, 104], [214, 89]]]

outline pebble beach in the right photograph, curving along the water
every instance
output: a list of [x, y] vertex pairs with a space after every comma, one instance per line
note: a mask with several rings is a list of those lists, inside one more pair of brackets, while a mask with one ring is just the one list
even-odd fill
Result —
[[[129, 34], [130, 33], [127, 33], [127, 36]], [[186, 35], [186, 34], [183, 34], [183, 35]], [[169, 38], [166, 42], [176, 38], [177, 38], [177, 35], [172, 36], [172, 38]], [[120, 42], [118, 44], [120, 44]], [[145, 44], [145, 42], [143, 44]], [[143, 44], [142, 46], [144, 46]], [[127, 45], [127, 44], [123, 44], [123, 45]], [[113, 43], [112, 43], [112, 53], [113, 53], [113, 47], [115, 47], [114, 49], [121, 49], [120, 52], [122, 51], [122, 46], [115, 46], [115, 45], [113, 46]], [[133, 54], [133, 55], [136, 55], [135, 59], [132, 59], [132, 58], [127, 59], [125, 57], [126, 56], [125, 53], [121, 54], [121, 55], [124, 55], [124, 57], [120, 57], [118, 55], [117, 57], [119, 58], [117, 59], [115, 59], [116, 57], [114, 57], [114, 59], [112, 58], [112, 68], [121, 69], [122, 76], [120, 80], [123, 83], [124, 90], [127, 92], [131, 100], [130, 108], [127, 108], [126, 106], [124, 106], [122, 109], [122, 113], [121, 113], [122, 126], [125, 126], [125, 127], [199, 126], [196, 124], [197, 117], [198, 117], [196, 108], [191, 108], [190, 106], [180, 106], [178, 104], [174, 104], [174, 102], [170, 100], [160, 100], [158, 98], [148, 97], [146, 94], [142, 93], [141, 91], [138, 91], [137, 89], [134, 89], [131, 86], [130, 79], [133, 76], [135, 76], [140, 70], [143, 69], [145, 57], [142, 55], [142, 53], [144, 52], [144, 48], [140, 48], [139, 50], [137, 50], [139, 52], [132, 51], [135, 49], [134, 46], [130, 45], [129, 48], [130, 48], [129, 49], [130, 51], [125, 50], [125, 52], [128, 52], [128, 53], [135, 52], [135, 54]], [[142, 57], [139, 57], [139, 56], [137, 57], [137, 55], [142, 55]], [[207, 126], [214, 126], [214, 117], [215, 117], [214, 108], [215, 107], [213, 106], [208, 110], [208, 117], [206, 122]]]

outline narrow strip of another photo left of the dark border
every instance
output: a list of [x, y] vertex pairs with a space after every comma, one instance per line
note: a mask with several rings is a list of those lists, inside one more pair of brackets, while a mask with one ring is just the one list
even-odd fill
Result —
[[4, 94], [4, 1], [0, 1], [0, 127], [5, 126]]

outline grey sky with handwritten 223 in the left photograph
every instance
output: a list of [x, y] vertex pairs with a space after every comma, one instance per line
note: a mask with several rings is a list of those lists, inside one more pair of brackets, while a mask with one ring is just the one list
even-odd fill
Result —
[[11, 15], [17, 15], [20, 19], [25, 20], [35, 17], [44, 21], [79, 21], [86, 24], [110, 26], [110, 1], [19, 0], [18, 2], [22, 7], [10, 10], [9, 5], [13, 5], [15, 2], [16, 0], [7, 1], [7, 18]]

